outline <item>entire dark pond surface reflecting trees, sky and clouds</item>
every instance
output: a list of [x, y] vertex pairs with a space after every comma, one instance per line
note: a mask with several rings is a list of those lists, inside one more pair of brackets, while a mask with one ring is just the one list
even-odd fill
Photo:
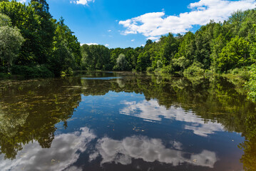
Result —
[[256, 170], [239, 79], [81, 73], [0, 82], [0, 170]]

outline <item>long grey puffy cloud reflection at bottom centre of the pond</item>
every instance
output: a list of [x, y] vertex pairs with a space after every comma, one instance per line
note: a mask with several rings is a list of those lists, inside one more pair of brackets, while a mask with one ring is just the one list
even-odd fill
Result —
[[180, 142], [173, 142], [173, 148], [166, 148], [162, 140], [143, 136], [132, 136], [123, 140], [102, 138], [98, 140], [98, 144], [96, 145], [97, 150], [90, 156], [90, 160], [101, 156], [101, 165], [111, 162], [129, 165], [132, 163], [132, 158], [134, 158], [142, 159], [145, 162], [158, 161], [174, 166], [188, 162], [193, 165], [211, 168], [217, 162], [215, 152], [203, 150], [199, 154], [188, 155], [188, 152], [181, 151], [180, 145]]

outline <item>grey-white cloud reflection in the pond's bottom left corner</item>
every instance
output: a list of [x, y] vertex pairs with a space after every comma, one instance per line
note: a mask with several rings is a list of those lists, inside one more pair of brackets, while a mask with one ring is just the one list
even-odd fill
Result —
[[[41, 148], [38, 142], [24, 145], [15, 160], [4, 160], [0, 155], [0, 170], [65, 170], [86, 150], [96, 135], [88, 128], [81, 128], [80, 132], [56, 135], [51, 148]], [[78, 153], [79, 152], [79, 153]], [[81, 170], [77, 167], [68, 170]]]

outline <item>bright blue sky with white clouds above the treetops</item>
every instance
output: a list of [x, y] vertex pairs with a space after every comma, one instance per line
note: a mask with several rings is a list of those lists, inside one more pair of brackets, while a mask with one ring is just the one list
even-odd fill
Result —
[[[21, 0], [26, 1], [26, 0]], [[28, 1], [28, 0], [27, 0]], [[160, 35], [195, 31], [210, 19], [223, 21], [238, 9], [255, 8], [255, 0], [48, 0], [81, 43], [109, 48], [137, 47]]]

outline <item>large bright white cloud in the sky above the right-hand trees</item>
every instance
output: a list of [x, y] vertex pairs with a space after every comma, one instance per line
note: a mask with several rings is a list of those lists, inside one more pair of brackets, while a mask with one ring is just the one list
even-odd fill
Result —
[[191, 3], [190, 12], [181, 13], [178, 16], [165, 16], [165, 11], [143, 14], [133, 19], [119, 21], [126, 28], [122, 33], [142, 33], [147, 37], [156, 37], [166, 33], [185, 33], [194, 25], [205, 25], [213, 19], [224, 21], [232, 12], [255, 8], [255, 0], [200, 0]]

